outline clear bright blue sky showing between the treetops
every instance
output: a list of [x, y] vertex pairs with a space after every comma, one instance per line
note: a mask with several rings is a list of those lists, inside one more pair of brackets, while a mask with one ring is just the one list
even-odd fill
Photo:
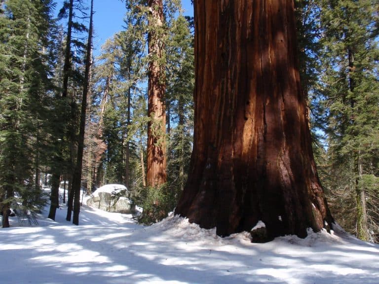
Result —
[[[84, 0], [85, 3], [89, 0]], [[63, 0], [57, 0], [57, 12], [62, 7]], [[191, 0], [182, 0], [184, 15], [193, 15]], [[125, 15], [125, 2], [121, 0], [94, 0], [93, 9], [95, 10], [93, 25], [95, 30], [94, 54], [99, 54], [101, 45], [115, 33], [122, 29]]]

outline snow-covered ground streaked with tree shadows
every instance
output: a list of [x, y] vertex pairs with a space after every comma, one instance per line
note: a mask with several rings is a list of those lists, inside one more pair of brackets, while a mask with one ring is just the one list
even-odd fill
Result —
[[178, 216], [150, 227], [131, 215], [82, 206], [79, 226], [39, 216], [0, 229], [1, 284], [379, 284], [379, 246], [344, 233], [309, 233], [252, 244], [217, 237]]

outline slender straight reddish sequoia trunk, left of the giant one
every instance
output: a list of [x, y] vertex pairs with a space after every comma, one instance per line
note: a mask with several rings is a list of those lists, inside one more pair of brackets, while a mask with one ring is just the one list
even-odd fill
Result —
[[148, 84], [148, 161], [147, 184], [157, 186], [166, 182], [166, 113], [164, 105], [165, 65], [163, 37], [163, 2], [149, 0], [149, 84]]

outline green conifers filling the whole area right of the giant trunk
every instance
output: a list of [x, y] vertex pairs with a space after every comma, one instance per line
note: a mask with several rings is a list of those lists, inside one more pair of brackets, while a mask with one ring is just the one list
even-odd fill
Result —
[[336, 220], [378, 242], [378, 1], [297, 0], [302, 85]]

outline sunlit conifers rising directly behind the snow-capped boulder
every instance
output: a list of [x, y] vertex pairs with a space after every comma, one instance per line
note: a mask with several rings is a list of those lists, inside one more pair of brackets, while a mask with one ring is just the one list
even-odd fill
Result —
[[[135, 35], [132, 31], [124, 31], [109, 39], [95, 68], [93, 103], [97, 109], [99, 138], [106, 144], [103, 157], [99, 159], [104, 183], [128, 183], [125, 172], [129, 169], [131, 173], [130, 159], [126, 161], [125, 156], [127, 151], [133, 150], [133, 128], [138, 123], [133, 115], [137, 106], [132, 107], [132, 104], [141, 96], [137, 83], [142, 80], [141, 70], [144, 69], [139, 55], [141, 41]], [[132, 183], [129, 187], [133, 187]]]

